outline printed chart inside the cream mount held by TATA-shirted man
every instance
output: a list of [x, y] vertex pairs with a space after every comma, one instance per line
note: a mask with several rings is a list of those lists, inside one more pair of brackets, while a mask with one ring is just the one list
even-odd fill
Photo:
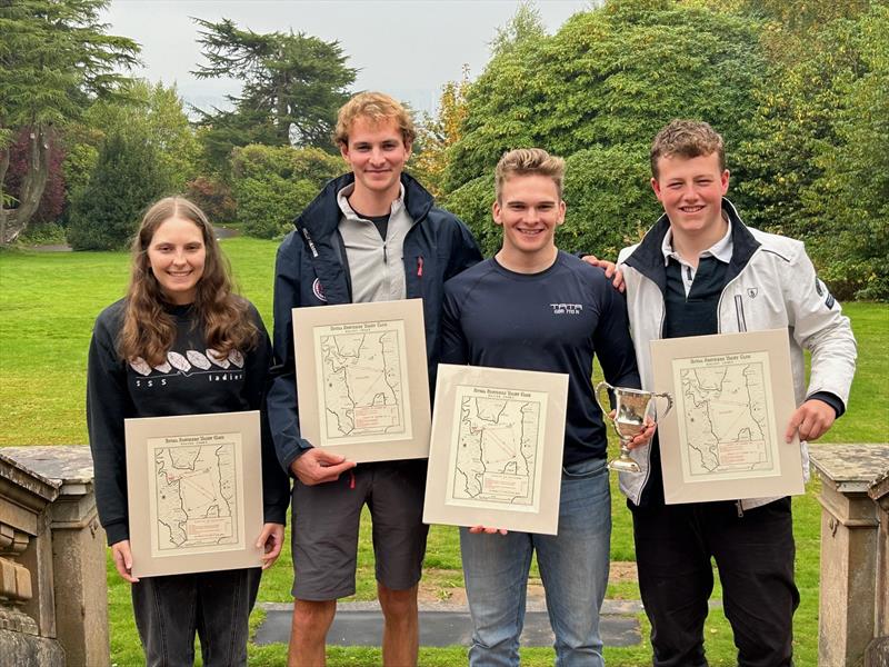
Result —
[[457, 387], [446, 504], [538, 511], [547, 395]]

